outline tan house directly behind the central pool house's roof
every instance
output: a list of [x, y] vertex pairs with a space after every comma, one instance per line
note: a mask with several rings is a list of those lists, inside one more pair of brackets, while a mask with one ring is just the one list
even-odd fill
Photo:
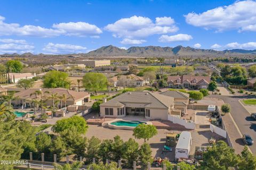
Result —
[[130, 75], [116, 75], [113, 78], [109, 78], [109, 82], [117, 86], [146, 86], [149, 84], [149, 80], [139, 77], [135, 74]]

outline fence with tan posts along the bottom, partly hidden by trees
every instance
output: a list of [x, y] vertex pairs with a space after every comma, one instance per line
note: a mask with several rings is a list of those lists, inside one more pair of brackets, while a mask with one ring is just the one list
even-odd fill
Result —
[[[83, 157], [80, 156], [79, 157], [79, 162], [83, 162]], [[39, 168], [52, 168], [54, 169], [54, 166], [53, 164], [54, 163], [58, 163], [60, 165], [65, 165], [65, 164], [71, 164], [72, 162], [70, 161], [70, 157], [69, 155], [66, 156], [66, 161], [65, 162], [57, 162], [57, 154], [53, 154], [53, 162], [46, 162], [44, 160], [44, 153], [41, 154], [41, 160], [33, 160], [33, 152], [29, 152], [29, 163], [27, 164], [27, 168], [33, 168], [33, 167], [39, 167]], [[97, 160], [96, 158], [93, 158], [92, 159], [92, 163], [91, 164], [97, 164]], [[109, 164], [109, 160], [106, 159], [106, 164]], [[81, 168], [79, 168], [79, 170], [85, 170], [88, 168], [90, 164], [87, 164], [87, 165], [83, 165]], [[121, 160], [118, 160], [118, 163], [117, 163], [117, 167], [118, 168], [122, 168], [122, 169], [133, 169], [133, 170], [150, 170], [150, 169], [162, 169], [162, 170], [166, 170], [166, 164], [162, 164], [162, 165], [159, 165], [159, 164], [151, 164], [150, 162], [148, 163], [142, 163], [142, 162], [136, 162], [136, 161], [133, 161], [131, 162], [128, 166], [127, 165], [124, 165], [122, 163]], [[176, 167], [177, 170], [180, 170], [180, 167], [177, 166]]]

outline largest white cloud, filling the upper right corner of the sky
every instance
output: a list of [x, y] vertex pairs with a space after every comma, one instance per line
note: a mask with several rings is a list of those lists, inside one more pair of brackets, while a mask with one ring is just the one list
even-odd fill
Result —
[[256, 31], [255, 9], [255, 1], [236, 1], [203, 13], [188, 13], [185, 18], [187, 23], [205, 29]]

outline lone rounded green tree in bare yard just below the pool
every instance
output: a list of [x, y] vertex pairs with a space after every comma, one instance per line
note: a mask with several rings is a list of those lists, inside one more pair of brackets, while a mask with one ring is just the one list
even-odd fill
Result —
[[139, 124], [133, 130], [133, 135], [137, 139], [144, 139], [144, 143], [146, 143], [149, 138], [154, 137], [157, 134], [156, 126], [154, 125], [146, 125], [146, 124]]

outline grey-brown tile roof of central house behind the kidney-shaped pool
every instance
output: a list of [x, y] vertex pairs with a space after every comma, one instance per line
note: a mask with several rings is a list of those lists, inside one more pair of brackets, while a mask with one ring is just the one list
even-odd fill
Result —
[[174, 105], [173, 98], [152, 92], [125, 92], [100, 106], [124, 106], [125, 103], [142, 103], [150, 108], [169, 108]]

